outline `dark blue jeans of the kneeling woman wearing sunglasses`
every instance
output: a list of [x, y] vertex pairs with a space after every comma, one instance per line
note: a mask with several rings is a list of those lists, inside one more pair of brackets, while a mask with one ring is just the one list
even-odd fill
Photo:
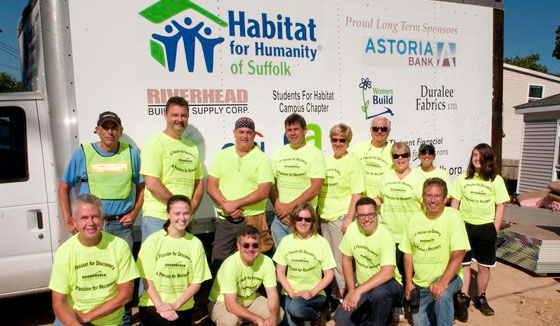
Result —
[[286, 312], [288, 326], [298, 326], [303, 321], [314, 321], [321, 317], [320, 311], [325, 306], [327, 297], [316, 295], [311, 300], [301, 297], [291, 299], [287, 295], [280, 296], [280, 305]]

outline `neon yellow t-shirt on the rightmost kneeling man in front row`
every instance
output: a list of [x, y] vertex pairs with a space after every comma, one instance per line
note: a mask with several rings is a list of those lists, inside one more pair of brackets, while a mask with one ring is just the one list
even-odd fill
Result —
[[[412, 254], [414, 284], [429, 287], [445, 272], [451, 252], [469, 251], [471, 246], [461, 215], [446, 207], [436, 219], [427, 218], [424, 212], [414, 214], [408, 221], [399, 249]], [[459, 268], [457, 275], [461, 277], [462, 274]]]

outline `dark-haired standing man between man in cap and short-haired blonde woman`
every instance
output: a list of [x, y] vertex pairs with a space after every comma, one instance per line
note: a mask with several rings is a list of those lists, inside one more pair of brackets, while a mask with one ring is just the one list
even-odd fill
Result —
[[317, 147], [305, 141], [305, 119], [292, 113], [284, 121], [289, 144], [280, 147], [272, 157], [275, 184], [270, 189], [270, 201], [276, 216], [270, 226], [274, 246], [290, 234], [290, 214], [302, 203], [317, 208], [317, 196], [325, 179], [325, 160]]

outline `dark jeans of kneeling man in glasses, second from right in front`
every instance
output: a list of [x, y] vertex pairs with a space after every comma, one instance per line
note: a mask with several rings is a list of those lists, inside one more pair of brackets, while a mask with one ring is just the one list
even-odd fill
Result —
[[391, 279], [362, 294], [356, 309], [348, 311], [339, 306], [334, 314], [335, 324], [336, 326], [385, 326], [391, 317], [391, 307], [400, 302], [402, 292], [402, 286], [395, 279]]

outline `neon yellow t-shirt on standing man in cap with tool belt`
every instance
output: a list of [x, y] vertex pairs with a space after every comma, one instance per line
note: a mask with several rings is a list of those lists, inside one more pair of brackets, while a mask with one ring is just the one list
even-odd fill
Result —
[[[261, 183], [274, 183], [274, 173], [270, 159], [258, 147], [247, 155], [239, 157], [235, 146], [221, 150], [212, 162], [209, 175], [219, 179], [219, 188], [227, 200], [245, 197], [257, 190]], [[220, 207], [218, 212], [223, 213]], [[243, 207], [243, 215], [252, 216], [264, 213], [266, 198]], [[224, 217], [219, 216], [223, 219]]]

